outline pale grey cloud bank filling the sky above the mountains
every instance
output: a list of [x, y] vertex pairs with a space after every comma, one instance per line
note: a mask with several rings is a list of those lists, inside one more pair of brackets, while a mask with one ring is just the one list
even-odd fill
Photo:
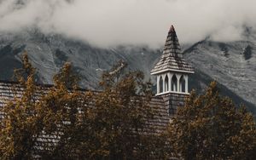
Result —
[[180, 43], [211, 36], [240, 40], [256, 25], [256, 0], [0, 0], [0, 31], [38, 27], [99, 47], [163, 45], [174, 25]]

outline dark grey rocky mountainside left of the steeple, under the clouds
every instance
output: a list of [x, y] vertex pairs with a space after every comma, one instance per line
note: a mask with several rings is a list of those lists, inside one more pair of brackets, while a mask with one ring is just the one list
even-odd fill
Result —
[[[67, 39], [60, 35], [47, 35], [37, 30], [19, 34], [0, 34], [0, 75], [9, 79], [13, 69], [19, 68], [20, 57], [26, 50], [32, 65], [38, 69], [42, 83], [52, 83], [52, 76], [65, 61], [70, 61], [79, 72], [84, 88], [96, 89], [102, 71], [107, 71], [119, 60], [125, 60], [131, 70], [142, 70], [148, 79], [154, 61], [160, 50], [148, 47], [119, 46], [113, 49], [99, 49], [88, 43]], [[145, 54], [144, 54], [145, 53]]]

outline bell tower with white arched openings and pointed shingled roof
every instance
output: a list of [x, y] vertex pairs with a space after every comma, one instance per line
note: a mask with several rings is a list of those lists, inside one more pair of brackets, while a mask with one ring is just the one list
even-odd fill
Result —
[[157, 78], [156, 95], [189, 94], [189, 74], [194, 72], [183, 59], [176, 31], [171, 26], [163, 54], [151, 71]]

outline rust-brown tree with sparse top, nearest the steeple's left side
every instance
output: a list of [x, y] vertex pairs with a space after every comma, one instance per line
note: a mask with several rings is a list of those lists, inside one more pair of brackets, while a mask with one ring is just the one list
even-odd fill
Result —
[[[149, 106], [151, 83], [143, 83], [143, 73], [121, 74], [120, 62], [102, 76], [102, 92], [92, 109], [96, 133], [96, 155], [106, 159], [140, 159], [147, 139], [143, 135], [147, 119], [153, 118]], [[135, 151], [136, 150], [136, 151]], [[149, 155], [149, 154], [148, 154]]]

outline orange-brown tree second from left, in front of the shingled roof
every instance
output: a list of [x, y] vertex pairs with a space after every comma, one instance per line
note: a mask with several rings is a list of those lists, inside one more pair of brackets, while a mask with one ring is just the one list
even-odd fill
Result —
[[[70, 63], [65, 63], [54, 77], [54, 85], [40, 100], [44, 108], [44, 131], [58, 134], [55, 147], [41, 153], [44, 159], [82, 159], [88, 156], [91, 92], [79, 89], [79, 77]], [[51, 144], [49, 144], [51, 145]]]

